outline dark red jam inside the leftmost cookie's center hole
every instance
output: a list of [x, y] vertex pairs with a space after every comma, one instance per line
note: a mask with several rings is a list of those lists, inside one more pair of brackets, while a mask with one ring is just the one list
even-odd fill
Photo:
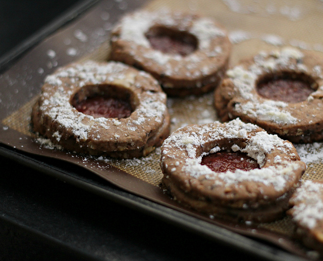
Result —
[[128, 118], [132, 109], [129, 102], [112, 97], [89, 97], [75, 105], [76, 110], [94, 118]]

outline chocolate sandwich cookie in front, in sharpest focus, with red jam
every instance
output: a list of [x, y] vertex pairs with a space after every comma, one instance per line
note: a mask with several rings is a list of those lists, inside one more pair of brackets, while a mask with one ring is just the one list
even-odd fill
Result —
[[240, 119], [178, 129], [161, 147], [160, 166], [179, 203], [253, 222], [284, 215], [306, 168], [291, 142]]

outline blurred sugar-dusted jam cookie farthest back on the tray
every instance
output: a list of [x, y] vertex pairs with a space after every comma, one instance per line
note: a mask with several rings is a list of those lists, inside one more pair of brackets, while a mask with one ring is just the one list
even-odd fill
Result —
[[214, 89], [227, 69], [231, 43], [216, 21], [194, 14], [137, 11], [111, 36], [111, 60], [149, 72], [167, 94]]

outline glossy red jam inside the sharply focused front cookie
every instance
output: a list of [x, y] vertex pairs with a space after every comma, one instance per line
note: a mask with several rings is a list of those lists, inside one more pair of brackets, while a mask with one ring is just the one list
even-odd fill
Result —
[[258, 163], [243, 152], [219, 151], [210, 153], [203, 156], [201, 164], [206, 165], [214, 172], [259, 169]]

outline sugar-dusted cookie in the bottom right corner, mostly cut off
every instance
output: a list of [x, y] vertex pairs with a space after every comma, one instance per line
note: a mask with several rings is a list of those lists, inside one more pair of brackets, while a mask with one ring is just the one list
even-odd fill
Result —
[[304, 245], [323, 255], [323, 180], [306, 180], [290, 199], [289, 214]]

